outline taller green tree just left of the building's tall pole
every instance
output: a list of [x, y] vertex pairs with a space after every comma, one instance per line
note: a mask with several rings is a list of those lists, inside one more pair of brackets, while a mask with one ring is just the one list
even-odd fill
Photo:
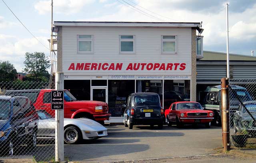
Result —
[[28, 73], [32, 80], [39, 81], [48, 78], [47, 69], [50, 68], [50, 60], [43, 52], [26, 52], [24, 64], [24, 72]]

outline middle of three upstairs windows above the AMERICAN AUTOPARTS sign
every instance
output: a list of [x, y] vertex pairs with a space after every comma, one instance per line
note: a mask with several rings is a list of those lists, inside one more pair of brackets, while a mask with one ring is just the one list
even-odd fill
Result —
[[134, 35], [120, 35], [120, 53], [134, 53]]

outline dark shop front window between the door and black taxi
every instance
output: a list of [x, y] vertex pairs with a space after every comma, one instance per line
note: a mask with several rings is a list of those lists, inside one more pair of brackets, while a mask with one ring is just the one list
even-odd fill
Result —
[[112, 117], [124, 114], [128, 96], [135, 92], [134, 80], [108, 80], [108, 107]]

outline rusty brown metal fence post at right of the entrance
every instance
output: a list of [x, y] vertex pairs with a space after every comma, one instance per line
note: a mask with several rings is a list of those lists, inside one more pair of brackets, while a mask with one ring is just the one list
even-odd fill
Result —
[[221, 108], [222, 108], [222, 143], [223, 151], [230, 150], [230, 128], [229, 128], [229, 92], [228, 78], [221, 79]]

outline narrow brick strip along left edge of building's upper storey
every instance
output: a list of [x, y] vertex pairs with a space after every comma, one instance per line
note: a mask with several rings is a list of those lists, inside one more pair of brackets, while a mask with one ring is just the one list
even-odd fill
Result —
[[62, 72], [62, 26], [58, 26], [57, 40], [57, 72]]

